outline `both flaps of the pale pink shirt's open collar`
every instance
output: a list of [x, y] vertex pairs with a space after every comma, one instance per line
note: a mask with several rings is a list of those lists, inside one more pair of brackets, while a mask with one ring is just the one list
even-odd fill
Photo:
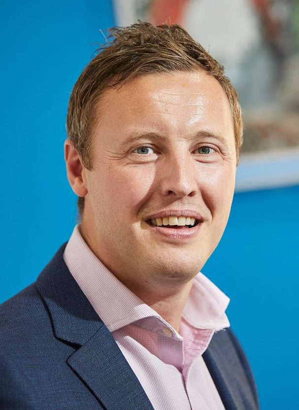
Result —
[[[101, 263], [82, 238], [78, 225], [66, 245], [64, 260], [110, 332], [146, 317], [156, 317], [168, 325]], [[229, 301], [216, 285], [199, 273], [194, 279], [183, 317], [199, 329], [223, 329], [230, 325], [225, 314]]]

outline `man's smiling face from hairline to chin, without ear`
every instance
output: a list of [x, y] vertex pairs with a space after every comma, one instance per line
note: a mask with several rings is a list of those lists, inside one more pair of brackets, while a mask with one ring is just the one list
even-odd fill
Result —
[[84, 169], [85, 239], [127, 283], [190, 280], [217, 246], [233, 199], [233, 119], [222, 87], [205, 71], [144, 75], [106, 90], [98, 109], [94, 169]]

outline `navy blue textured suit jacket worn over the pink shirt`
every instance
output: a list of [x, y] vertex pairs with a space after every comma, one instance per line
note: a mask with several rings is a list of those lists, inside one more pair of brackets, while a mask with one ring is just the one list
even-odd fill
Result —
[[[65, 246], [35, 283], [0, 306], [0, 409], [153, 410], [68, 271]], [[231, 330], [216, 333], [203, 358], [227, 410], [259, 408]]]

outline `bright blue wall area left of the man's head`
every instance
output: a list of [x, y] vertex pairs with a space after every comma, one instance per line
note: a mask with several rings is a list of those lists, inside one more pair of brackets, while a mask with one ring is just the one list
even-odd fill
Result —
[[2, 0], [0, 301], [28, 283], [68, 239], [76, 202], [66, 179], [66, 110], [110, 0]]

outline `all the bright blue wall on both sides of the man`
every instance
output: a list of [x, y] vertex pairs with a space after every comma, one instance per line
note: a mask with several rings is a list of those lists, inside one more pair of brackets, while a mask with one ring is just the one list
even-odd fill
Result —
[[[2, 0], [1, 9], [3, 302], [35, 280], [76, 223], [63, 159], [67, 102], [114, 17], [110, 0]], [[237, 193], [203, 269], [232, 299], [264, 410], [298, 408], [298, 203], [299, 186]]]

